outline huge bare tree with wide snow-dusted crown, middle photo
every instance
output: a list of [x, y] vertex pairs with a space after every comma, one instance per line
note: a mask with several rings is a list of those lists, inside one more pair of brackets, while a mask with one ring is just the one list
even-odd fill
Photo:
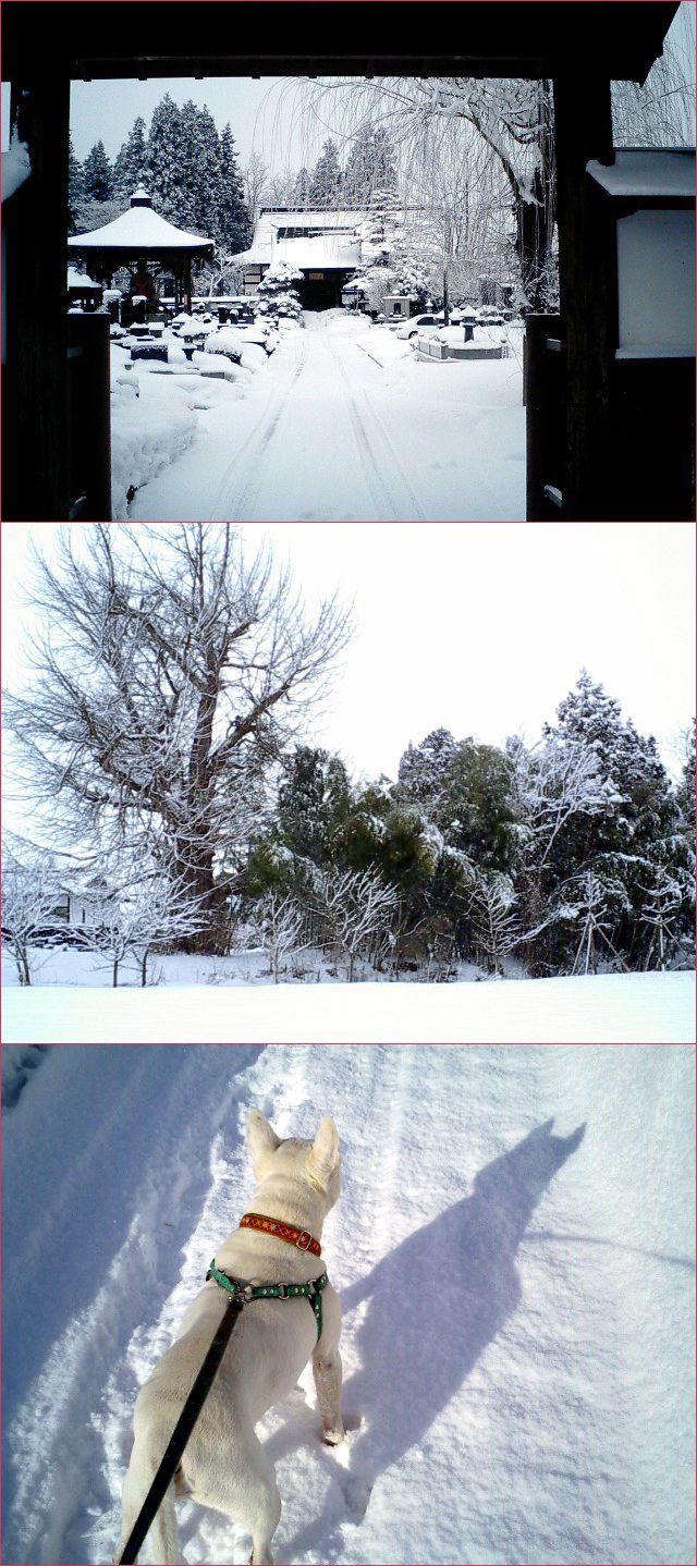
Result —
[[27, 785], [74, 835], [172, 868], [215, 951], [268, 767], [326, 692], [348, 617], [329, 600], [309, 622], [288, 568], [247, 559], [229, 523], [67, 528], [36, 564], [36, 678], [6, 697]]

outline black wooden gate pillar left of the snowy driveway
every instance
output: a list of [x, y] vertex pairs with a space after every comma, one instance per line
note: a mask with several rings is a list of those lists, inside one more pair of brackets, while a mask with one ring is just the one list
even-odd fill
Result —
[[3, 517], [67, 518], [69, 78], [13, 81], [11, 121], [28, 180], [5, 216]]

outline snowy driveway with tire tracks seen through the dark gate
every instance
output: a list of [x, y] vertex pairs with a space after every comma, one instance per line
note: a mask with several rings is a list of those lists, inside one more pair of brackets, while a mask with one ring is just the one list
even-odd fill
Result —
[[[179, 420], [180, 454], [141, 468], [135, 520], [525, 517], [522, 332], [497, 362], [420, 363], [387, 327], [305, 312], [247, 381], [152, 373], [125, 418]], [[124, 357], [114, 349], [116, 359]], [[200, 357], [200, 355], [199, 355]], [[128, 371], [132, 376], [132, 371]], [[193, 385], [200, 395], [193, 395]], [[124, 392], [127, 398], [127, 393]], [[191, 435], [186, 417], [197, 410]], [[164, 448], [163, 448], [164, 449]], [[121, 471], [121, 470], [119, 470]], [[127, 487], [127, 485], [125, 485]]]

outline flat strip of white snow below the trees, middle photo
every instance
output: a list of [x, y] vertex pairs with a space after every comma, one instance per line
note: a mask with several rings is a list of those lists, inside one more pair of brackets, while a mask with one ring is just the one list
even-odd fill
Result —
[[[75, 954], [67, 954], [69, 957]], [[166, 966], [168, 958], [157, 962]], [[188, 980], [183, 974], [188, 963]], [[58, 983], [3, 974], [6, 1043], [691, 1043], [694, 974], [456, 983], [279, 983], [262, 957], [175, 958], [163, 985], [103, 988], [74, 962]], [[70, 979], [67, 979], [67, 972]], [[91, 982], [89, 982], [91, 977]], [[86, 982], [85, 982], [86, 980]], [[133, 985], [133, 979], [132, 979]]]

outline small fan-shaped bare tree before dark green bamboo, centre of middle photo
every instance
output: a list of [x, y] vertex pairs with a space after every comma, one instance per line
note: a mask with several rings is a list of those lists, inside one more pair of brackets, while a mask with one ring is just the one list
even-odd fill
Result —
[[309, 902], [352, 983], [356, 962], [368, 943], [381, 935], [387, 941], [388, 922], [399, 902], [396, 889], [374, 871], [324, 871], [315, 877]]

